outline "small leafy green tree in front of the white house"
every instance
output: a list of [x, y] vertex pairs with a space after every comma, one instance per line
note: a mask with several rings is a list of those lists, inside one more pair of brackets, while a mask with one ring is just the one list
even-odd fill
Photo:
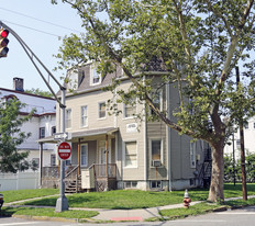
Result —
[[18, 170], [29, 169], [25, 158], [29, 151], [18, 151], [30, 134], [21, 132], [21, 125], [26, 122], [31, 114], [19, 116], [23, 106], [16, 99], [9, 99], [0, 103], [0, 171], [16, 172]]

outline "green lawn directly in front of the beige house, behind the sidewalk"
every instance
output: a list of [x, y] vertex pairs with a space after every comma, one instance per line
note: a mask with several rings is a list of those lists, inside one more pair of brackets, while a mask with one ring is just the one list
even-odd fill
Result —
[[[255, 194], [255, 184], [247, 184], [248, 194]], [[225, 197], [242, 196], [242, 184], [225, 184]], [[192, 201], [206, 201], [208, 190], [189, 190]], [[70, 207], [91, 208], [146, 208], [168, 204], [182, 203], [184, 191], [174, 192], [145, 192], [138, 190], [115, 190], [108, 192], [91, 192], [67, 195]], [[26, 205], [55, 206], [56, 197], [45, 197], [42, 200], [25, 202]]]

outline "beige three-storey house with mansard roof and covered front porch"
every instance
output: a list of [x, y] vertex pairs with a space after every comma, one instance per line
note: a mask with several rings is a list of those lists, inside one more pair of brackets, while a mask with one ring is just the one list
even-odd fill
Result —
[[[158, 67], [151, 68], [144, 79], [153, 78], [157, 88], [162, 75]], [[118, 103], [122, 114], [108, 114], [107, 102], [115, 99], [101, 89], [112, 79], [120, 79], [122, 89], [131, 86], [121, 69], [101, 77], [93, 64], [87, 64], [77, 72], [70, 70], [67, 77], [67, 88], [73, 90], [66, 95], [66, 132], [73, 146], [67, 165], [71, 163], [71, 172], [82, 176], [84, 189], [180, 190], [208, 183], [211, 158], [203, 142], [190, 143], [190, 137], [178, 135], [163, 122], [147, 122], [147, 106], [138, 101], [135, 106]], [[173, 118], [173, 110], [179, 104], [177, 89], [173, 84], [162, 87], [154, 101]], [[57, 132], [59, 113], [57, 104]], [[142, 122], [135, 113], [144, 115]], [[46, 137], [40, 142], [54, 140]]]

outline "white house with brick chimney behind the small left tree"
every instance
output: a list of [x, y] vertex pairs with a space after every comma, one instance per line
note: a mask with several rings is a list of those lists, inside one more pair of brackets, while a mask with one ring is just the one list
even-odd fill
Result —
[[[19, 151], [30, 151], [27, 160], [34, 161], [40, 167], [40, 145], [37, 140], [45, 136], [51, 136], [56, 132], [56, 101], [51, 98], [35, 95], [24, 92], [23, 79], [13, 78], [13, 90], [0, 88], [0, 100], [5, 101], [10, 98], [16, 98], [24, 103], [25, 106], [21, 109], [20, 115], [30, 113], [35, 109], [33, 116], [25, 122], [21, 131], [31, 133], [31, 136], [20, 146]], [[43, 166], [55, 166], [56, 154], [54, 144], [44, 144], [43, 146]], [[30, 169], [31, 171], [32, 169]]]

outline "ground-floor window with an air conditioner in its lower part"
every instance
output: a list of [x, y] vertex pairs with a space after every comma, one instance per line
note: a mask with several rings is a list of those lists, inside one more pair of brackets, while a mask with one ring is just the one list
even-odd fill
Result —
[[151, 166], [160, 166], [163, 163], [163, 140], [160, 138], [151, 139], [149, 149], [152, 159]]

